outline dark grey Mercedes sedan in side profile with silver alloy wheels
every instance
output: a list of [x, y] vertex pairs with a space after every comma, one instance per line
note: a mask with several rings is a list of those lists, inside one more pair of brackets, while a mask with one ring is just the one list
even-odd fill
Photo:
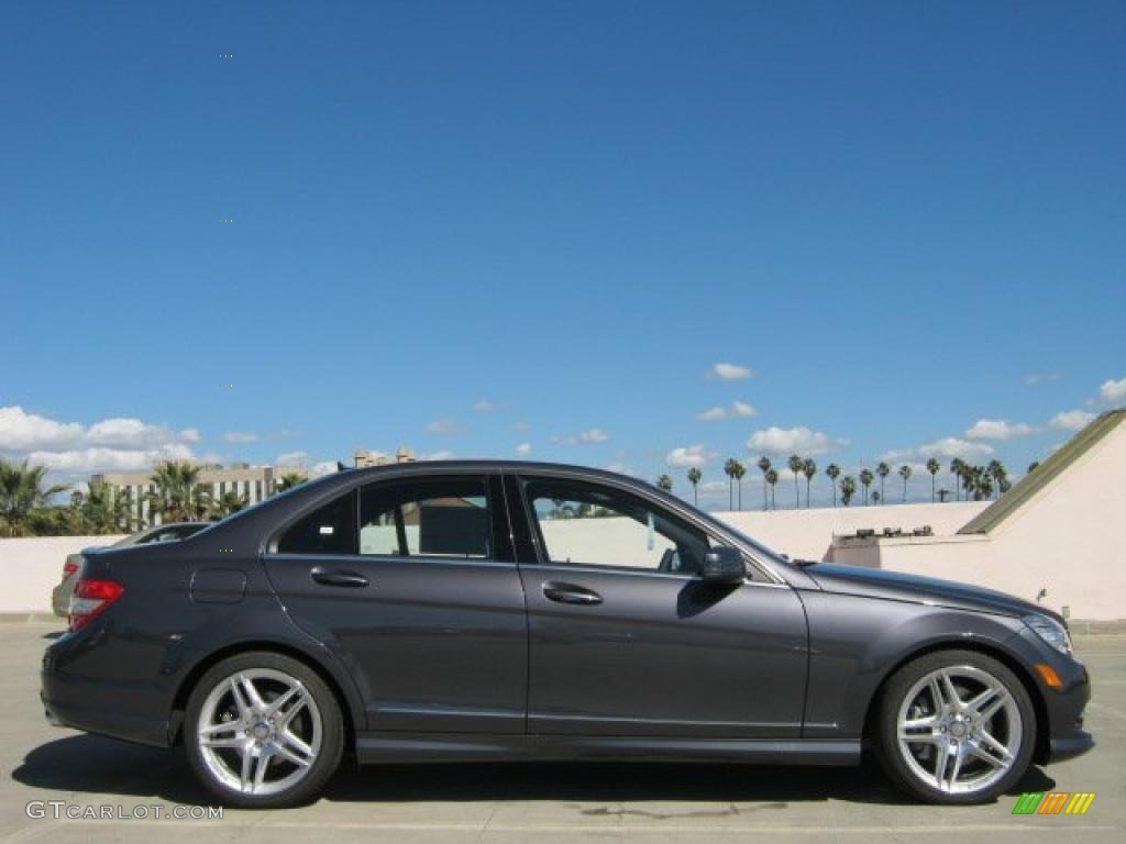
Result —
[[635, 478], [533, 463], [340, 472], [179, 542], [83, 555], [53, 721], [182, 745], [221, 800], [364, 763], [851, 765], [967, 803], [1092, 746], [1064, 620], [798, 565]]

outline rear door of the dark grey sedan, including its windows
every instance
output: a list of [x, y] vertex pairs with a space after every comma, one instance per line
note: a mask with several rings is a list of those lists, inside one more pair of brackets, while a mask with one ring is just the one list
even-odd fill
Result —
[[483, 473], [372, 481], [266, 556], [291, 617], [356, 677], [368, 729], [524, 731], [527, 620], [500, 488]]

